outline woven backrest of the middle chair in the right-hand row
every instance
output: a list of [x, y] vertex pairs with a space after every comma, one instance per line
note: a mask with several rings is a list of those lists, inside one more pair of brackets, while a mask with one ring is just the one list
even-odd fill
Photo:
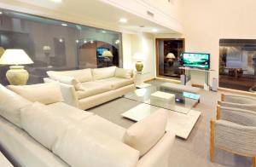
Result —
[[256, 126], [256, 112], [231, 107], [219, 107], [217, 112], [218, 119], [246, 126]]

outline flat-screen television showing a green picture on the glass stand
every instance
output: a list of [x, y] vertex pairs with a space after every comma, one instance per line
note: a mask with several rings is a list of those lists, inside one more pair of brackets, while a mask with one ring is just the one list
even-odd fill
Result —
[[210, 69], [210, 54], [183, 52], [182, 64], [183, 66]]

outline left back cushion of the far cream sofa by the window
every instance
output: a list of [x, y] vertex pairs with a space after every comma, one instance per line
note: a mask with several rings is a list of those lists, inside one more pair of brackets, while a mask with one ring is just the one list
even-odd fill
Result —
[[90, 68], [83, 69], [83, 70], [72, 70], [72, 71], [62, 71], [62, 72], [55, 72], [55, 71], [49, 71], [47, 72], [49, 78], [54, 79], [55, 76], [67, 76], [67, 77], [73, 77], [79, 80], [79, 82], [84, 83], [87, 81], [92, 80], [91, 70]]

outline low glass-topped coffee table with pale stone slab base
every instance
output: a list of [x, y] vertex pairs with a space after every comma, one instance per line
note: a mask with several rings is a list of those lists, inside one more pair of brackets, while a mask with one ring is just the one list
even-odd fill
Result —
[[183, 139], [189, 137], [201, 116], [201, 112], [195, 111], [193, 108], [200, 102], [200, 95], [198, 94], [150, 86], [136, 89], [124, 97], [139, 103], [136, 107], [122, 113], [123, 118], [137, 122], [148, 117], [152, 112], [164, 109], [168, 113], [166, 131], [172, 131]]

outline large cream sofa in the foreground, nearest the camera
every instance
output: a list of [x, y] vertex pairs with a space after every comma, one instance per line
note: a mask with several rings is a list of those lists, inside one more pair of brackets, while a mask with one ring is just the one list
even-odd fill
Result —
[[169, 167], [165, 110], [125, 130], [64, 103], [57, 82], [0, 85], [0, 99], [0, 145], [15, 166]]

